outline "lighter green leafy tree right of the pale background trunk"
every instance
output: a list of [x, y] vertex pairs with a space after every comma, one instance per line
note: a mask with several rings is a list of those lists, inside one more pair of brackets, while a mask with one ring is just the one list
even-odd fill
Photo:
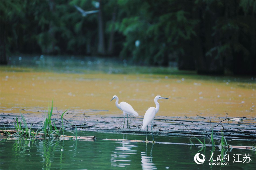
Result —
[[119, 1], [124, 13], [119, 31], [126, 36], [120, 55], [132, 56], [140, 64], [168, 66], [171, 56], [184, 54], [181, 44], [195, 35], [193, 28], [198, 21], [183, 8], [191, 3]]

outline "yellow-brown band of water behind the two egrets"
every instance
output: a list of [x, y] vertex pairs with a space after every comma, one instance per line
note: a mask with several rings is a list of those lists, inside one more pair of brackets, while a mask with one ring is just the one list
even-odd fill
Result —
[[[22, 70], [22, 71], [19, 71]], [[252, 78], [253, 79], [253, 78]], [[131, 104], [140, 116], [158, 100], [162, 116], [255, 117], [255, 81], [174, 74], [56, 73], [1, 66], [1, 113], [42, 113], [54, 100], [59, 111], [120, 115], [119, 102]], [[106, 111], [108, 110], [108, 111]]]

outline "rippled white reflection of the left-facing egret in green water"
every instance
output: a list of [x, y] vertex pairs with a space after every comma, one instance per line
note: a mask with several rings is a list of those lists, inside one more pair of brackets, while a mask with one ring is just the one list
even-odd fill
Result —
[[134, 147], [138, 147], [136, 142], [117, 142], [120, 145], [115, 147], [115, 150], [111, 154], [111, 166], [113, 167], [125, 167], [131, 164], [130, 155], [136, 154], [137, 150]]

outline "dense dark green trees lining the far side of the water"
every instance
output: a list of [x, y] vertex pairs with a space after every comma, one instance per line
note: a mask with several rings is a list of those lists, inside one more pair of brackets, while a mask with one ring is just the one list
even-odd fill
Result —
[[15, 52], [103, 55], [255, 74], [255, 1], [0, 1], [0, 10], [1, 63]]

